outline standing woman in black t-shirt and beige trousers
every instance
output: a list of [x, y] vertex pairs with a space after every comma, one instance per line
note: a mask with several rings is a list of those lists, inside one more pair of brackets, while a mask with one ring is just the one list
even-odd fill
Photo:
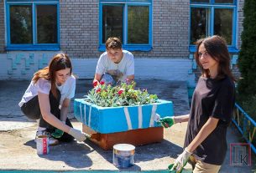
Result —
[[170, 118], [170, 124], [188, 121], [185, 150], [173, 168], [180, 172], [190, 158], [194, 173], [217, 173], [227, 152], [226, 134], [235, 104], [235, 79], [223, 38], [199, 40], [195, 59], [201, 77], [192, 97], [191, 112]]

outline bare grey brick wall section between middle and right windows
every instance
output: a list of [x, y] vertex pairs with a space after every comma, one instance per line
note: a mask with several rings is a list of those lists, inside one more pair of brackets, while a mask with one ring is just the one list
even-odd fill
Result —
[[153, 1], [153, 50], [134, 53], [142, 57], [189, 56], [190, 0]]

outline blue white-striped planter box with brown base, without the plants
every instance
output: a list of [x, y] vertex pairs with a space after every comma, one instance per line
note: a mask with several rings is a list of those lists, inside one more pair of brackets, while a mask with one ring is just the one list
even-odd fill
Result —
[[83, 124], [83, 131], [93, 134], [91, 140], [104, 150], [112, 145], [128, 143], [147, 145], [163, 140], [163, 128], [154, 122], [155, 114], [161, 117], [174, 114], [171, 101], [159, 100], [156, 104], [123, 107], [101, 107], [84, 99], [75, 99], [74, 113]]

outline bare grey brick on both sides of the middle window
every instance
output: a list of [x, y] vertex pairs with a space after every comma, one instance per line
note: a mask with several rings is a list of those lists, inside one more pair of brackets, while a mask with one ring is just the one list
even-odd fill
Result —
[[[138, 57], [188, 57], [189, 0], [153, 1], [153, 50]], [[74, 58], [98, 57], [99, 3], [97, 0], [60, 1], [60, 46]]]

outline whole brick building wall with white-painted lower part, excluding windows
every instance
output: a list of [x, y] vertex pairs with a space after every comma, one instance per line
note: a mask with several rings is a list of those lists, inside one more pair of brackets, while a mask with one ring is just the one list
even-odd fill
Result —
[[[193, 59], [188, 59], [189, 2], [153, 1], [153, 49], [149, 52], [133, 52], [137, 68], [136, 77], [159, 78], [159, 72], [169, 79], [185, 79], [183, 76], [186, 73], [189, 79], [195, 75], [193, 72], [196, 65]], [[238, 48], [241, 46], [240, 35], [243, 31], [243, 2], [244, 0], [238, 0]], [[5, 52], [3, 3], [4, 1], [0, 0], [0, 79], [30, 79], [34, 72], [46, 66], [52, 55], [58, 51]], [[98, 51], [98, 27], [98, 0], [60, 1], [60, 51], [71, 56], [74, 72], [82, 79], [93, 77], [97, 59], [102, 53]], [[232, 57], [232, 71], [238, 77], [236, 59]]]

